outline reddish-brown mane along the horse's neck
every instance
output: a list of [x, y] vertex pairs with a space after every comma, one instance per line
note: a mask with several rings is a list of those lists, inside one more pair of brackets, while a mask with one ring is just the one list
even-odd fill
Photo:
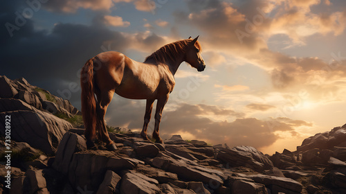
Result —
[[[192, 42], [192, 39], [182, 39], [176, 42], [172, 42], [170, 44], [166, 44], [165, 46], [162, 46], [157, 51], [152, 53], [151, 55], [147, 56], [145, 58], [144, 62], [147, 62], [148, 60], [154, 60], [155, 62], [167, 62], [167, 61], [174, 61], [176, 58], [178, 58], [182, 53], [185, 54], [186, 47]], [[201, 51], [201, 44], [197, 41], [194, 43], [194, 45], [199, 48]]]

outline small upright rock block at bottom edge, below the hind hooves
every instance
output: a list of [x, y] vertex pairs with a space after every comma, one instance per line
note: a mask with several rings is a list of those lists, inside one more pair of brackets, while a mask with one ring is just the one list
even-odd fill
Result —
[[120, 182], [120, 179], [121, 177], [119, 175], [111, 170], [107, 170], [106, 174], [104, 175], [103, 182], [100, 184], [96, 194], [116, 193], [116, 186]]

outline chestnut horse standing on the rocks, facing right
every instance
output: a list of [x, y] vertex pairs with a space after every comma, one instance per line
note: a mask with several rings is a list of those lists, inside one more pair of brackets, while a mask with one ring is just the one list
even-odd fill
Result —
[[152, 137], [157, 143], [163, 143], [158, 129], [163, 107], [175, 85], [174, 74], [182, 62], [187, 62], [197, 71], [206, 68], [198, 37], [166, 44], [147, 56], [144, 62], [137, 62], [116, 51], [107, 51], [99, 53], [84, 64], [80, 83], [84, 135], [88, 149], [95, 148], [93, 141], [96, 128], [97, 138], [106, 143], [107, 149], [117, 149], [109, 138], [104, 123], [104, 116], [114, 93], [124, 98], [147, 100], [143, 130], [140, 132], [140, 136], [145, 140], [149, 140], [147, 127], [154, 100], [157, 100]]

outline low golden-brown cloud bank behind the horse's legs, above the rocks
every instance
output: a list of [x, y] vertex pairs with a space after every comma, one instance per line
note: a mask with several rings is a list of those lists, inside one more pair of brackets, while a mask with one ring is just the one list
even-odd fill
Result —
[[[112, 115], [108, 118], [111, 121], [109, 124], [120, 125], [121, 123], [131, 130], [141, 130], [144, 104], [140, 106], [138, 103], [133, 104], [136, 110], [131, 109], [131, 111], [124, 107], [130, 108], [132, 105], [125, 104], [118, 103], [117, 107], [109, 107], [110, 115]], [[210, 105], [181, 103], [176, 109], [163, 111], [160, 134], [165, 139], [169, 139], [172, 134], [182, 134], [183, 139], [204, 139], [212, 144], [227, 143], [230, 146], [252, 145], [263, 148], [280, 139], [280, 136], [275, 134], [276, 132], [294, 132], [293, 127], [310, 125], [310, 123], [289, 118], [271, 118], [270, 121], [275, 124], [273, 128], [268, 127], [268, 121], [257, 118], [237, 118], [232, 122], [210, 119], [210, 115], [227, 114], [235, 114], [235, 112]], [[154, 121], [149, 123], [149, 132], [152, 132], [154, 128], [153, 123]]]

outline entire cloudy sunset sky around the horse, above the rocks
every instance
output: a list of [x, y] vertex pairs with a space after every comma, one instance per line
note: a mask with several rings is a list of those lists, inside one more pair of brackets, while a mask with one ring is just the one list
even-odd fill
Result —
[[[163, 139], [181, 134], [271, 155], [346, 123], [346, 1], [15, 0], [0, 10], [0, 74], [78, 109], [89, 58], [118, 51], [143, 62], [199, 35], [206, 70], [181, 64]], [[106, 121], [139, 131], [144, 113], [145, 100], [115, 94]]]

